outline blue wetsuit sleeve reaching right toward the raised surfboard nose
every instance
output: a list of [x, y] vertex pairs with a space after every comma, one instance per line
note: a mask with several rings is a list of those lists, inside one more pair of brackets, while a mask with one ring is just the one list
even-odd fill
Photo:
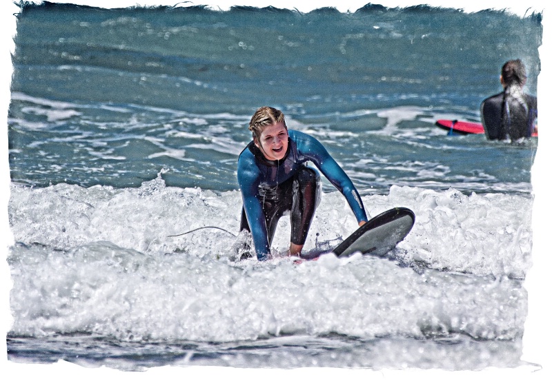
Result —
[[326, 148], [324, 148], [324, 145], [315, 138], [303, 134], [301, 139], [302, 144], [300, 149], [304, 150], [302, 153], [308, 157], [309, 160], [320, 169], [320, 172], [326, 176], [330, 183], [345, 196], [347, 203], [351, 209], [353, 209], [357, 222], [367, 221], [366, 210], [364, 209], [357, 189], [342, 167], [339, 167], [339, 164], [330, 156]]

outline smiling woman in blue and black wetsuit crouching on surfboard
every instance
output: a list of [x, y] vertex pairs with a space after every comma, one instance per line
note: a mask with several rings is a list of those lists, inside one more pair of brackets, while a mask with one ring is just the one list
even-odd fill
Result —
[[249, 123], [253, 141], [238, 158], [237, 180], [244, 207], [240, 231], [250, 231], [258, 260], [270, 258], [276, 225], [289, 212], [290, 255], [297, 256], [311, 227], [322, 190], [311, 161], [345, 196], [359, 225], [368, 218], [355, 186], [315, 138], [288, 130], [284, 114], [261, 107]]

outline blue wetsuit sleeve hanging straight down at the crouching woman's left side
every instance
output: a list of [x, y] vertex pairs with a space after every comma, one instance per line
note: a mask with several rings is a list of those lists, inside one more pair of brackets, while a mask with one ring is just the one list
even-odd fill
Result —
[[237, 168], [237, 181], [242, 192], [244, 210], [246, 212], [253, 244], [258, 260], [268, 259], [270, 245], [266, 234], [266, 221], [258, 195], [259, 168], [255, 165], [253, 156], [239, 156]]

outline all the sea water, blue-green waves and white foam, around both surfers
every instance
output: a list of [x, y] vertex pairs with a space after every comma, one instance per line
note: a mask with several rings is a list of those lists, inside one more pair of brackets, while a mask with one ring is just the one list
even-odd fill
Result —
[[[479, 121], [508, 59], [536, 94], [542, 14], [44, 3], [23, 7], [14, 43], [10, 361], [528, 365], [538, 138], [435, 121]], [[283, 218], [273, 260], [237, 261], [237, 155], [262, 105], [324, 143], [371, 216], [412, 209], [411, 234], [384, 258], [297, 265]], [[307, 251], [355, 229], [323, 189]]]

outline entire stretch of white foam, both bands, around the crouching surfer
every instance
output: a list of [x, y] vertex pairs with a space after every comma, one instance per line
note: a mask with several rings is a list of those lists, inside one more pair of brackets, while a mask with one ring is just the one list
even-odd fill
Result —
[[[8, 262], [12, 333], [88, 332], [120, 340], [258, 340], [339, 333], [514, 340], [531, 266], [531, 198], [391, 187], [363, 198], [375, 216], [410, 207], [415, 226], [387, 258], [324, 255], [233, 261], [238, 192], [59, 184], [12, 185]], [[356, 227], [344, 198], [324, 194], [306, 250]], [[206, 226], [219, 229], [200, 229]], [[390, 260], [391, 259], [391, 260]]]

